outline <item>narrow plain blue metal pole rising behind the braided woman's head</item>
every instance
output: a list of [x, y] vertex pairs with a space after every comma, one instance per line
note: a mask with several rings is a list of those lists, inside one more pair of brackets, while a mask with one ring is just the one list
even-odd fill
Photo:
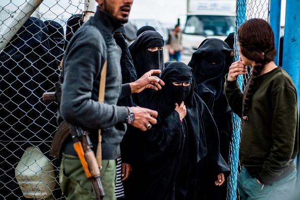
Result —
[[281, 16], [281, 0], [272, 0], [269, 4], [270, 25], [274, 32], [275, 48], [277, 49], [275, 64], [279, 61], [279, 39], [280, 39], [280, 16]]

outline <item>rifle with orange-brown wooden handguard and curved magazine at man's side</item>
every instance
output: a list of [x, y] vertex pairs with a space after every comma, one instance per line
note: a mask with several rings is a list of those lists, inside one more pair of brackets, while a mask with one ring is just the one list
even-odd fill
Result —
[[[56, 85], [56, 92], [43, 93], [43, 101], [56, 101], [59, 103], [60, 96], [61, 84], [58, 84]], [[63, 121], [54, 135], [49, 155], [54, 158], [58, 158], [60, 156], [62, 144], [70, 133], [74, 142], [74, 149], [78, 154], [84, 173], [92, 183], [97, 200], [101, 200], [103, 199], [105, 192], [100, 179], [100, 170], [95, 154], [92, 151], [92, 144], [87, 131], [83, 131], [82, 128]]]

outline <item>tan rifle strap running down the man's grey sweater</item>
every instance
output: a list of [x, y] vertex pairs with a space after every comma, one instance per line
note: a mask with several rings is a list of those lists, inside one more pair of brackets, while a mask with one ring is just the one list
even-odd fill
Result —
[[[104, 103], [105, 84], [106, 84], [106, 71], [107, 71], [107, 60], [104, 62], [103, 69], [101, 72], [101, 79], [99, 84], [99, 97], [98, 102]], [[98, 145], [96, 152], [96, 160], [100, 169], [102, 169], [102, 149], [101, 149], [101, 129], [98, 130]]]

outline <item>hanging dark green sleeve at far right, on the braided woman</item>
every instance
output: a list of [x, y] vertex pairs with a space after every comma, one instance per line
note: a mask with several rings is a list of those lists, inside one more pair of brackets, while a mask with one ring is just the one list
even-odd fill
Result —
[[290, 87], [279, 87], [271, 99], [273, 147], [260, 173], [260, 177], [268, 183], [273, 183], [293, 162], [298, 149], [296, 91]]

